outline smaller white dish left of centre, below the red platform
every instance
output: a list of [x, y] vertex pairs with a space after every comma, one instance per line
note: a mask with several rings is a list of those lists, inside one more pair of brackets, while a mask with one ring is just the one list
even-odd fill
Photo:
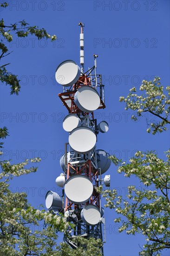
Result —
[[63, 129], [66, 132], [71, 132], [74, 128], [81, 125], [81, 120], [75, 114], [66, 115], [63, 120]]

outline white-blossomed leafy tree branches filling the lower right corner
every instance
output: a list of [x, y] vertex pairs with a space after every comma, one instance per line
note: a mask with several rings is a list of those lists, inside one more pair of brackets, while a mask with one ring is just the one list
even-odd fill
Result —
[[116, 189], [103, 191], [105, 207], [115, 209], [121, 217], [119, 232], [127, 234], [141, 233], [147, 243], [140, 255], [160, 255], [162, 249], [170, 249], [170, 150], [166, 152], [167, 161], [157, 157], [155, 152], [137, 151], [130, 163], [122, 162], [110, 156], [116, 162], [118, 173], [125, 177], [135, 175], [142, 185], [139, 188], [129, 186], [124, 199]]

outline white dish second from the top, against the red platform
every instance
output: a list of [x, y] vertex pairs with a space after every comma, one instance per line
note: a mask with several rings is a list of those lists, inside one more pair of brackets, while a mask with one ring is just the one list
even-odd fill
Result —
[[86, 113], [93, 112], [100, 106], [100, 97], [98, 92], [87, 85], [78, 89], [74, 95], [74, 101], [78, 108]]

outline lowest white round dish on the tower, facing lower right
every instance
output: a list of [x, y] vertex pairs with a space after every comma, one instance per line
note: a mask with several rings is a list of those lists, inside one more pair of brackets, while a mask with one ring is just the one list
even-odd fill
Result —
[[101, 214], [97, 206], [88, 204], [81, 211], [81, 218], [87, 225], [96, 225], [100, 221]]

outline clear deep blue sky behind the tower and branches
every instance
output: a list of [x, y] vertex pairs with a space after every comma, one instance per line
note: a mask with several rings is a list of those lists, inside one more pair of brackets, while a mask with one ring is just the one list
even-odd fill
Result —
[[[1, 12], [6, 24], [25, 19], [31, 25], [46, 28], [58, 40], [40, 42], [30, 36], [14, 38], [4, 58], [7, 67], [21, 79], [19, 96], [10, 95], [0, 86], [1, 127], [7, 126], [10, 136], [5, 140], [4, 159], [17, 163], [33, 155], [41, 157], [36, 174], [13, 180], [13, 191], [26, 191], [29, 202], [37, 207], [45, 204], [49, 189], [61, 173], [59, 158], [64, 152], [68, 134], [62, 120], [68, 114], [59, 100], [62, 86], [54, 81], [60, 62], [71, 59], [79, 63], [79, 27], [85, 23], [85, 70], [93, 66], [93, 54], [98, 54], [98, 74], [105, 83], [104, 110], [95, 112], [98, 122], [109, 123], [109, 131], [98, 136], [97, 149], [128, 160], [136, 150], [156, 150], [160, 157], [170, 146], [169, 131], [150, 135], [145, 118], [131, 121], [131, 111], [124, 110], [119, 96], [126, 96], [133, 86], [154, 75], [162, 84], [170, 85], [170, 2], [157, 1], [8, 1], [10, 7]], [[151, 120], [153, 117], [148, 116]], [[15, 155], [14, 155], [15, 154]], [[106, 174], [111, 175], [111, 188], [125, 195], [125, 188], [136, 184], [116, 172], [112, 164]], [[104, 204], [104, 202], [103, 202]], [[105, 256], [137, 256], [144, 237], [118, 234], [115, 213], [105, 209]], [[62, 236], [59, 237], [59, 241]], [[163, 252], [168, 256], [168, 251]]]

